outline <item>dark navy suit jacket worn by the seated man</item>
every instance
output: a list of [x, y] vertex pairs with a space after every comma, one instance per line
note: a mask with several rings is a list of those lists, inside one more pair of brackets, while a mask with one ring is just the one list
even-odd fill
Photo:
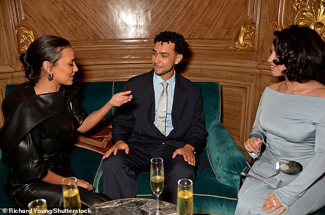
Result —
[[142, 147], [165, 143], [177, 149], [189, 144], [194, 147], [198, 168], [204, 168], [208, 161], [201, 152], [206, 145], [207, 131], [199, 88], [190, 80], [175, 74], [173, 130], [165, 136], [153, 124], [155, 117], [153, 74], [154, 70], [151, 70], [125, 83], [123, 90], [131, 90], [133, 99], [119, 107], [114, 116], [112, 143], [124, 140], [128, 145]]

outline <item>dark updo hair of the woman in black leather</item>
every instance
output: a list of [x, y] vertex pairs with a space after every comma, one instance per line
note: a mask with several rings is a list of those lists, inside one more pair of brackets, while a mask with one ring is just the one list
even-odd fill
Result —
[[19, 57], [29, 82], [35, 85], [40, 78], [43, 62], [49, 61], [55, 65], [66, 47], [71, 47], [68, 40], [52, 35], [44, 35], [33, 41], [27, 53]]

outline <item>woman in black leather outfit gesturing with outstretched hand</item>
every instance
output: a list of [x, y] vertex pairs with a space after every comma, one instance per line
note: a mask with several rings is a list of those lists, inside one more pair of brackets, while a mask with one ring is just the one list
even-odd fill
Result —
[[[49, 208], [62, 208], [62, 179], [74, 176], [66, 152], [73, 130], [93, 128], [113, 106], [132, 99], [120, 92], [89, 116], [78, 104], [72, 86], [78, 68], [69, 41], [45, 35], [32, 42], [20, 57], [29, 82], [19, 85], [3, 102], [5, 124], [0, 131], [3, 163], [9, 168], [5, 183], [15, 207], [27, 208], [34, 199], [46, 199]], [[93, 193], [78, 179], [82, 207], [110, 200]]]

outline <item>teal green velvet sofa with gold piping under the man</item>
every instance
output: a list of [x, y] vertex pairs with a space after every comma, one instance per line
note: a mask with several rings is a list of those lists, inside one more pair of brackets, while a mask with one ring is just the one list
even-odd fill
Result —
[[[220, 123], [220, 85], [217, 82], [195, 82], [201, 89], [203, 112], [208, 131], [204, 155], [209, 164], [197, 170], [193, 185], [194, 212], [209, 214], [233, 214], [237, 204], [240, 172], [246, 166], [246, 157], [236, 146], [225, 127]], [[75, 82], [80, 87], [77, 97], [85, 111], [90, 114], [103, 106], [112, 94], [122, 91], [122, 81]], [[17, 84], [6, 86], [8, 94]], [[116, 108], [110, 111], [106, 120], [111, 121]], [[72, 146], [71, 166], [80, 179], [93, 183], [95, 192], [103, 192], [101, 158], [103, 155], [85, 148]], [[0, 151], [1, 158], [1, 151]], [[0, 162], [0, 208], [10, 208], [4, 193], [4, 181], [8, 169]], [[137, 198], [151, 198], [149, 172], [138, 176]], [[2, 210], [0, 209], [0, 214]]]

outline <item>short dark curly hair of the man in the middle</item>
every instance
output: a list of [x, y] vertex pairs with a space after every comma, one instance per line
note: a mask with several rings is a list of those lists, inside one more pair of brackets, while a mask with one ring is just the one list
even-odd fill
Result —
[[164, 31], [164, 32], [160, 32], [158, 35], [156, 35], [155, 39], [154, 39], [154, 44], [156, 44], [156, 42], [171, 42], [175, 44], [175, 48], [174, 51], [176, 54], [182, 54], [184, 55], [186, 52], [187, 47], [189, 46], [189, 44], [185, 41], [184, 37], [180, 34], [177, 34], [176, 32], [171, 32], [171, 31]]

